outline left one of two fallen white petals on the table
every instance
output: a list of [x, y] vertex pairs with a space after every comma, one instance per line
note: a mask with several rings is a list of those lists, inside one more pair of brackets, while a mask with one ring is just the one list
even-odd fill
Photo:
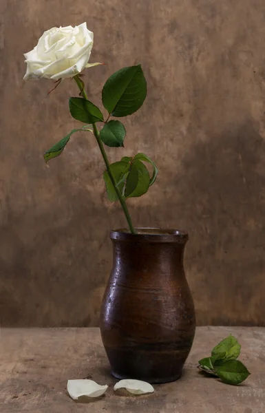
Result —
[[68, 380], [67, 392], [72, 399], [77, 400], [78, 397], [99, 397], [107, 390], [107, 385], [99, 385], [96, 381], [83, 379], [83, 380]]

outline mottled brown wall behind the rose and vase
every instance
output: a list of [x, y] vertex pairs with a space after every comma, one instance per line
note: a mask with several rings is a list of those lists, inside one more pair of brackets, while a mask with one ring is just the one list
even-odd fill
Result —
[[142, 63], [145, 105], [125, 119], [125, 149], [160, 174], [130, 200], [136, 226], [189, 231], [185, 268], [198, 324], [265, 325], [264, 0], [1, 0], [0, 308], [5, 326], [96, 326], [112, 264], [109, 204], [92, 136], [79, 134], [46, 167], [43, 152], [70, 131], [64, 81], [23, 83], [23, 52], [47, 28], [87, 21], [86, 72], [100, 104], [107, 77]]

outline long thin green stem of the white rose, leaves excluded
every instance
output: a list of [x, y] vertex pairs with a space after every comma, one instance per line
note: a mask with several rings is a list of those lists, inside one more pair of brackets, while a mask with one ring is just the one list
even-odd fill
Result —
[[[83, 98], [87, 99], [87, 94], [85, 92], [83, 81], [81, 81], [81, 79], [78, 76], [74, 76], [74, 80], [76, 81], [76, 84], [78, 85]], [[123, 198], [123, 195], [120, 193], [120, 190], [118, 189], [118, 187], [116, 187], [116, 181], [115, 181], [114, 175], [112, 173], [112, 169], [110, 168], [109, 159], [107, 158], [107, 153], [106, 153], [105, 148], [103, 146], [103, 142], [100, 139], [100, 135], [99, 135], [99, 132], [98, 132], [98, 128], [96, 127], [96, 123], [92, 123], [92, 127], [93, 127], [93, 131], [94, 131], [94, 136], [96, 138], [96, 141], [98, 142], [98, 147], [100, 149], [101, 155], [103, 156], [103, 160], [105, 162], [105, 166], [106, 166], [106, 169], [107, 169], [107, 173], [109, 175], [109, 179], [112, 181], [112, 185], [113, 185], [113, 187], [116, 191], [116, 194], [118, 196], [118, 200], [120, 201], [120, 205], [123, 208], [123, 212], [125, 213], [125, 217], [127, 219], [129, 229], [130, 229], [132, 234], [136, 234], [134, 226], [131, 222], [131, 216], [129, 215], [129, 211], [127, 209], [127, 204], [125, 202], [125, 199]]]

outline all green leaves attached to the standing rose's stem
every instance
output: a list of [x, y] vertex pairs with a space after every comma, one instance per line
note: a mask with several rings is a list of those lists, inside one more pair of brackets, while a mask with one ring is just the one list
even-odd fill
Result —
[[[109, 120], [109, 118], [110, 116], [121, 118], [134, 114], [142, 106], [146, 95], [145, 76], [141, 66], [136, 65], [124, 67], [107, 79], [102, 90], [103, 106], [109, 114], [107, 120], [104, 120], [102, 112], [94, 103], [85, 98], [71, 97], [69, 108], [72, 117], [87, 125], [81, 129], [73, 129], [70, 134], [57, 142], [45, 153], [45, 161], [61, 155], [74, 132], [91, 131], [93, 133], [93, 124], [95, 123], [103, 123], [98, 139], [105, 145], [124, 147], [126, 129], [123, 123], [120, 120]], [[145, 163], [151, 165], [153, 169], [151, 176]], [[116, 188], [120, 190], [125, 199], [138, 197], [148, 191], [158, 175], [158, 168], [145, 153], [138, 153], [134, 158], [125, 156], [120, 161], [110, 165], [110, 169], [115, 178], [115, 185], [108, 171], [104, 172], [103, 178], [107, 195], [112, 202], [118, 200]]]

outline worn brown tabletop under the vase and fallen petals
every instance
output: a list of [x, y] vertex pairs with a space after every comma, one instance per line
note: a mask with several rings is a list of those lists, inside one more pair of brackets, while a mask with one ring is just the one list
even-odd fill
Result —
[[[235, 335], [240, 359], [251, 376], [239, 386], [205, 377], [197, 361], [221, 339]], [[182, 378], [154, 385], [145, 396], [117, 396], [116, 379], [98, 328], [1, 328], [1, 413], [264, 413], [265, 328], [199, 327]], [[68, 379], [93, 379], [109, 388], [103, 398], [76, 403], [67, 394]]]

